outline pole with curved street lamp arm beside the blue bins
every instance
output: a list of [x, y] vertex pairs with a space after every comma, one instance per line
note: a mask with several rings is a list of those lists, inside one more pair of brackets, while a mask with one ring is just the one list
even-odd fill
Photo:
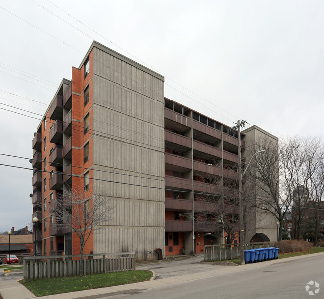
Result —
[[[238, 129], [238, 134], [240, 136], [240, 128]], [[243, 176], [245, 174], [245, 172], [247, 171], [253, 157], [256, 154], [259, 153], [263, 153], [265, 152], [265, 150], [259, 150], [258, 152], [254, 153], [248, 163], [248, 165], [246, 166], [243, 174], [241, 174], [241, 138], [239, 138], [239, 151], [238, 151], [238, 155], [239, 155], [239, 167], [238, 167], [238, 189], [239, 189], [239, 194], [238, 194], [238, 199], [239, 199], [239, 221], [240, 221], [240, 262], [241, 265], [244, 265], [244, 227], [243, 227], [243, 202], [242, 202], [242, 181], [243, 181]]]

